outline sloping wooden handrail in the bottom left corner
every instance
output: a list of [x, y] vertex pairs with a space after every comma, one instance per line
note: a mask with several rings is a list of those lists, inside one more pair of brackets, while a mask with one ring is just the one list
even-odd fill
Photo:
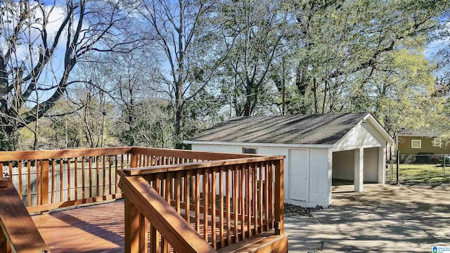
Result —
[[0, 179], [0, 186], [0, 252], [50, 252], [12, 181]]

